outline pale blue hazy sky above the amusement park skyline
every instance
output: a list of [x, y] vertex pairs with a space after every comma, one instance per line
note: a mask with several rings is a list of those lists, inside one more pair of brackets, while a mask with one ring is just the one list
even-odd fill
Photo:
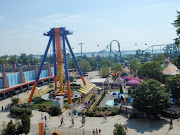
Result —
[[[54, 27], [73, 31], [75, 53], [98, 52], [112, 40], [121, 50], [174, 43], [180, 0], [1, 0], [0, 56], [44, 54]], [[135, 45], [136, 44], [136, 45]], [[147, 44], [147, 45], [145, 45]], [[117, 43], [112, 43], [117, 50]]]

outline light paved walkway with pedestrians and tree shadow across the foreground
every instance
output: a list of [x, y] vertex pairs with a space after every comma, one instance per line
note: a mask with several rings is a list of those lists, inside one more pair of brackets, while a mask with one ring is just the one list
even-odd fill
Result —
[[[61, 116], [51, 117], [49, 120], [48, 114], [43, 113], [47, 116], [47, 126], [49, 129], [51, 128], [70, 128], [71, 127], [71, 117], [68, 114], [64, 114], [64, 122], [65, 125], [59, 127]], [[0, 112], [0, 130], [2, 129], [2, 122], [5, 121], [6, 124], [12, 119], [9, 116], [9, 112]], [[33, 117], [31, 117], [31, 132], [34, 134], [38, 132], [38, 123], [41, 122], [41, 112], [33, 110]], [[13, 119], [15, 120], [15, 119]], [[81, 117], [75, 117], [75, 124], [73, 129], [85, 129], [88, 131], [93, 131], [95, 128], [100, 128], [102, 130], [102, 135], [113, 135], [113, 129], [115, 123], [121, 123], [125, 125], [127, 123], [128, 126], [128, 135], [179, 135], [180, 127], [177, 125], [173, 126], [172, 130], [169, 130], [169, 121], [166, 119], [161, 120], [144, 120], [144, 119], [126, 119], [123, 115], [109, 116], [108, 122], [102, 123], [101, 117], [86, 117], [85, 126], [81, 126]], [[173, 121], [175, 123], [175, 121]], [[179, 124], [179, 122], [178, 122]]]

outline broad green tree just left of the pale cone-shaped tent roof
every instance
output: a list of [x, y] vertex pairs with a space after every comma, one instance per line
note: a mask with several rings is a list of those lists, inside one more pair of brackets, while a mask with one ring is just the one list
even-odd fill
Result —
[[162, 70], [161, 64], [157, 61], [144, 63], [138, 68], [138, 76], [146, 77], [148, 79], [155, 79], [158, 81], [162, 80]]

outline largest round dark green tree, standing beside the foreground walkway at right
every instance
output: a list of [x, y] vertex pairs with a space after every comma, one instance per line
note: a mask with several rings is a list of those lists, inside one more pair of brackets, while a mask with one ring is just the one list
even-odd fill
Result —
[[142, 82], [133, 92], [133, 106], [148, 114], [161, 113], [170, 104], [169, 94], [154, 79]]

